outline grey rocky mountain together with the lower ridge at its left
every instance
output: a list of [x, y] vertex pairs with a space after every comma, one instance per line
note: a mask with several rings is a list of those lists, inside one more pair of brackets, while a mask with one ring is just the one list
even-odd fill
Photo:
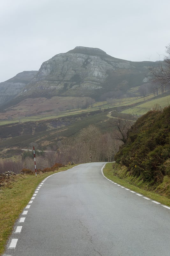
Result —
[[33, 98], [90, 97], [106, 100], [148, 83], [148, 67], [158, 62], [133, 62], [98, 48], [77, 46], [42, 63], [39, 71], [24, 71], [0, 83], [1, 109]]

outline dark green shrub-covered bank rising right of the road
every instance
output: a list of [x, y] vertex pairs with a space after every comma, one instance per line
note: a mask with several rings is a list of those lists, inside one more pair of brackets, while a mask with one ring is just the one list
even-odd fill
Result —
[[[131, 127], [126, 143], [115, 161], [131, 175], [159, 189], [170, 183], [170, 106], [163, 112], [150, 111]], [[159, 186], [159, 187], [158, 187]], [[167, 187], [170, 196], [170, 188]]]

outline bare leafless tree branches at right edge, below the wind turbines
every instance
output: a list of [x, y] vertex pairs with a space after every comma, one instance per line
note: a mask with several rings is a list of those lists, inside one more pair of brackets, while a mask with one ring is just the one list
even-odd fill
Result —
[[149, 68], [150, 80], [157, 84], [163, 92], [166, 88], [170, 88], [170, 44], [166, 46], [166, 53], [163, 63], [159, 63], [158, 67]]

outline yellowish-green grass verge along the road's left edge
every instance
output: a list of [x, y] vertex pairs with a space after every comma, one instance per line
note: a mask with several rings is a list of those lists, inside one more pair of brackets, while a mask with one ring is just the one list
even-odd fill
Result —
[[0, 255], [11, 235], [15, 221], [30, 201], [35, 188], [49, 175], [68, 170], [75, 165], [61, 167], [58, 171], [35, 175], [16, 175], [6, 187], [0, 188]]

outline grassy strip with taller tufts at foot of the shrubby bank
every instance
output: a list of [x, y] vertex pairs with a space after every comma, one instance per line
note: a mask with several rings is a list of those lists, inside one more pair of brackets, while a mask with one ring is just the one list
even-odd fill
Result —
[[[113, 165], [115, 166], [115, 168], [113, 167]], [[108, 163], [106, 164], [103, 173], [108, 179], [113, 180], [114, 182], [122, 185], [125, 188], [129, 188], [130, 190], [136, 191], [137, 193], [142, 194], [143, 196], [147, 196], [148, 198], [151, 198], [161, 204], [170, 206], [170, 198], [155, 193], [154, 189], [153, 191], [147, 190], [149, 188], [146, 183], [141, 183], [141, 181], [134, 179], [134, 177], [130, 179], [130, 177], [127, 177], [125, 175], [123, 168], [119, 168], [119, 175], [122, 175], [123, 177], [120, 179], [117, 176], [117, 168], [119, 168], [117, 164]]]

